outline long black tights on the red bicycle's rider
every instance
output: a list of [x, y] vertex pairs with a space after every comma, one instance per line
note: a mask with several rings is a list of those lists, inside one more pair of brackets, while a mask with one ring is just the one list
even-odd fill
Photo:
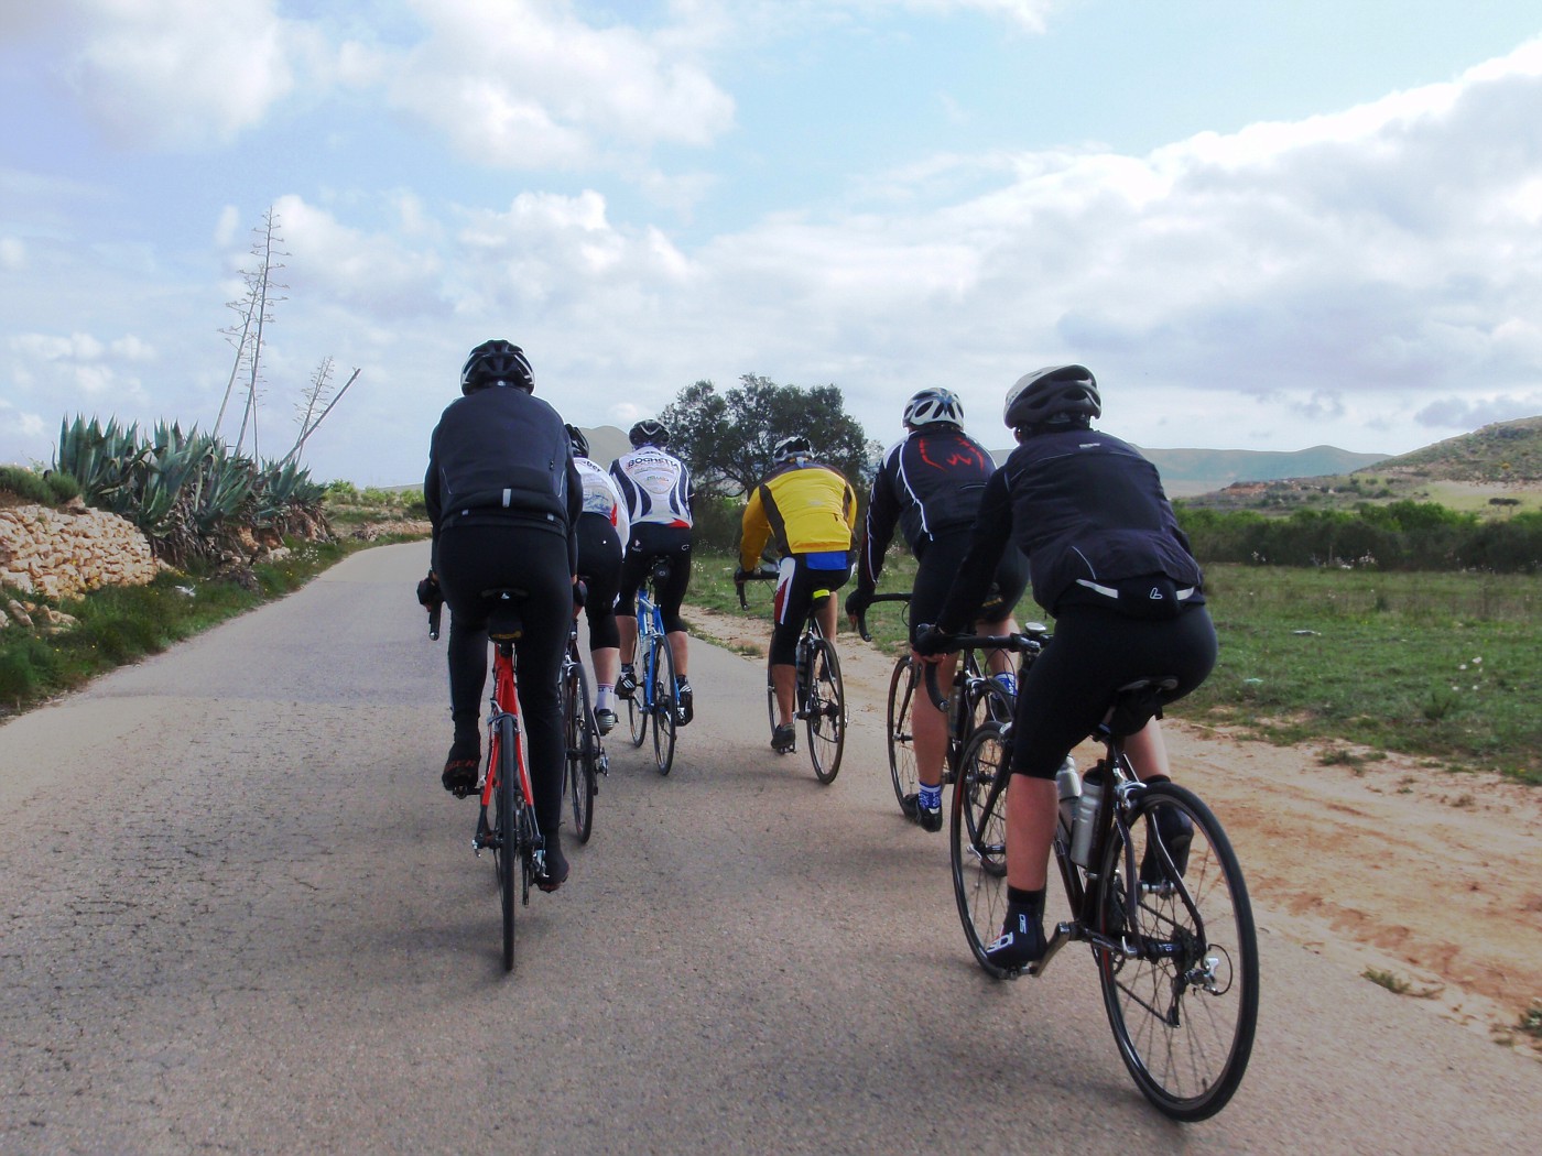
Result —
[[435, 563], [450, 607], [450, 717], [456, 734], [481, 728], [489, 607], [481, 592], [512, 586], [527, 595], [513, 669], [530, 744], [535, 820], [541, 831], [557, 831], [564, 763], [558, 672], [574, 612], [567, 539], [529, 526], [452, 526], [439, 533]]

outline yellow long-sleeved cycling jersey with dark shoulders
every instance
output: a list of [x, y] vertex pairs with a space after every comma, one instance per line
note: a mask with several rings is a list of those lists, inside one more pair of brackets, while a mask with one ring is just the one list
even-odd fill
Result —
[[774, 539], [782, 555], [854, 549], [857, 495], [839, 470], [814, 461], [779, 465], [749, 492], [739, 564], [752, 570]]

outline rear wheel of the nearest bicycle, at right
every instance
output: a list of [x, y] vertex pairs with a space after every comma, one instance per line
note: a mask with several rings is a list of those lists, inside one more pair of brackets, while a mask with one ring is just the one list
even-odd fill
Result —
[[1258, 1023], [1247, 888], [1215, 815], [1181, 786], [1147, 788], [1129, 838], [1115, 828], [1103, 857], [1099, 929], [1129, 948], [1093, 953], [1103, 1005], [1146, 1097], [1177, 1121], [1203, 1121], [1237, 1091]]

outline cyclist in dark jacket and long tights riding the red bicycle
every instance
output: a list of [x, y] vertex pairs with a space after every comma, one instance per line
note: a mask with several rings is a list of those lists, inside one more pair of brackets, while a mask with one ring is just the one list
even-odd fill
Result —
[[476, 785], [490, 607], [483, 592], [524, 590], [515, 674], [530, 743], [535, 818], [546, 832], [546, 875], [537, 883], [554, 891], [567, 877], [557, 838], [563, 801], [557, 675], [574, 613], [583, 487], [567, 428], [557, 410], [534, 396], [535, 376], [518, 345], [489, 341], [473, 348], [461, 370], [461, 393], [433, 430], [423, 481], [433, 573], [450, 607], [455, 741], [441, 780], [446, 791], [463, 794]]

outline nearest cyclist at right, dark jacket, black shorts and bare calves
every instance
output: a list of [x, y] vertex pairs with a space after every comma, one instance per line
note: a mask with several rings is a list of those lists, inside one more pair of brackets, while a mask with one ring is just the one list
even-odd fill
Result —
[[[968, 556], [936, 627], [916, 640], [917, 652], [938, 655], [948, 633], [964, 632], [1008, 539], [1029, 556], [1035, 600], [1055, 615], [1055, 637], [1018, 691], [1012, 735], [1007, 919], [987, 949], [1008, 969], [1044, 956], [1061, 761], [1092, 734], [1118, 687], [1175, 675], [1170, 701], [1215, 664], [1203, 575], [1156, 467], [1118, 438], [1095, 433], [1090, 422], [1101, 413], [1098, 384], [1082, 365], [1038, 370], [1012, 387], [1005, 421], [1018, 449], [985, 486]], [[1126, 749], [1141, 778], [1167, 775], [1156, 718]]]

